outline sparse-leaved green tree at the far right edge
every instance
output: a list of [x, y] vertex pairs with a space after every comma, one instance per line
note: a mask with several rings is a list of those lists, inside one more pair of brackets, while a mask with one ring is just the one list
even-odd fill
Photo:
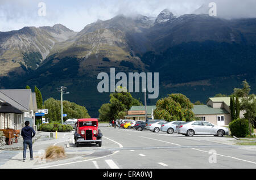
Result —
[[246, 80], [242, 82], [243, 88], [234, 88], [234, 95], [241, 98], [241, 109], [245, 110], [243, 114], [249, 121], [250, 134], [253, 130], [253, 123], [256, 118], [256, 98], [254, 94], [250, 95], [250, 85]]

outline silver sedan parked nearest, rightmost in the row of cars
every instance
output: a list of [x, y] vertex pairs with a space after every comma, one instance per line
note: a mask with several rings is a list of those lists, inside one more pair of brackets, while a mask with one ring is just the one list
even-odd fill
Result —
[[224, 136], [229, 134], [229, 129], [213, 125], [207, 121], [191, 121], [177, 127], [177, 133], [186, 136], [193, 135], [214, 135]]

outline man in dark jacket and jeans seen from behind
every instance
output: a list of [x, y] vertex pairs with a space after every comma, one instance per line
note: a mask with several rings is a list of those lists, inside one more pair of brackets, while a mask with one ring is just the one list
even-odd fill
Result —
[[32, 151], [32, 138], [35, 136], [35, 131], [29, 121], [25, 122], [25, 127], [22, 128], [21, 135], [23, 137], [23, 162], [26, 160], [27, 145], [30, 148], [30, 160], [34, 160]]

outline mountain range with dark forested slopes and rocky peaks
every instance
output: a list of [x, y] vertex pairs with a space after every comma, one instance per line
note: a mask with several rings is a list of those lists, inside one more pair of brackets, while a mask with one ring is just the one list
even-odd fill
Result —
[[[157, 17], [118, 15], [80, 32], [64, 25], [0, 32], [0, 88], [37, 85], [43, 97], [85, 105], [97, 117], [109, 93], [97, 92], [97, 74], [159, 72], [159, 98], [180, 92], [192, 101], [232, 93], [247, 79], [256, 87], [256, 18], [221, 19], [207, 14]], [[142, 93], [134, 93], [141, 98]], [[156, 100], [148, 100], [154, 104]]]

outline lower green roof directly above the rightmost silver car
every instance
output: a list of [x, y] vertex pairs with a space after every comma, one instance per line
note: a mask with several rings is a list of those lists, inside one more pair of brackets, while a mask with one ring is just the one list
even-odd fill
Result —
[[229, 114], [224, 108], [212, 108], [209, 105], [194, 105], [192, 109], [195, 115], [199, 114]]

